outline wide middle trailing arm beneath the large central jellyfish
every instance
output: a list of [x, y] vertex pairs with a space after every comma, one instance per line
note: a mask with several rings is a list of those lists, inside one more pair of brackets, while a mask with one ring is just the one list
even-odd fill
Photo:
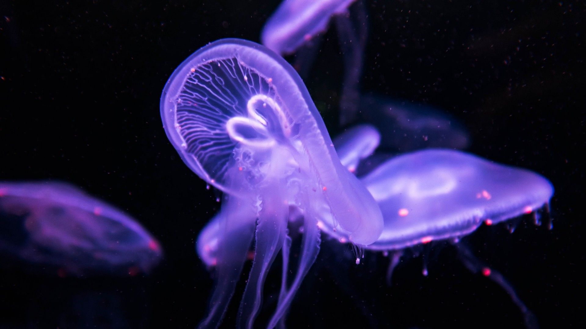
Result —
[[263, 195], [255, 232], [253, 267], [240, 302], [240, 328], [253, 327], [262, 303], [263, 285], [268, 270], [284, 243], [289, 206], [282, 199], [282, 195], [280, 190], [267, 191]]

